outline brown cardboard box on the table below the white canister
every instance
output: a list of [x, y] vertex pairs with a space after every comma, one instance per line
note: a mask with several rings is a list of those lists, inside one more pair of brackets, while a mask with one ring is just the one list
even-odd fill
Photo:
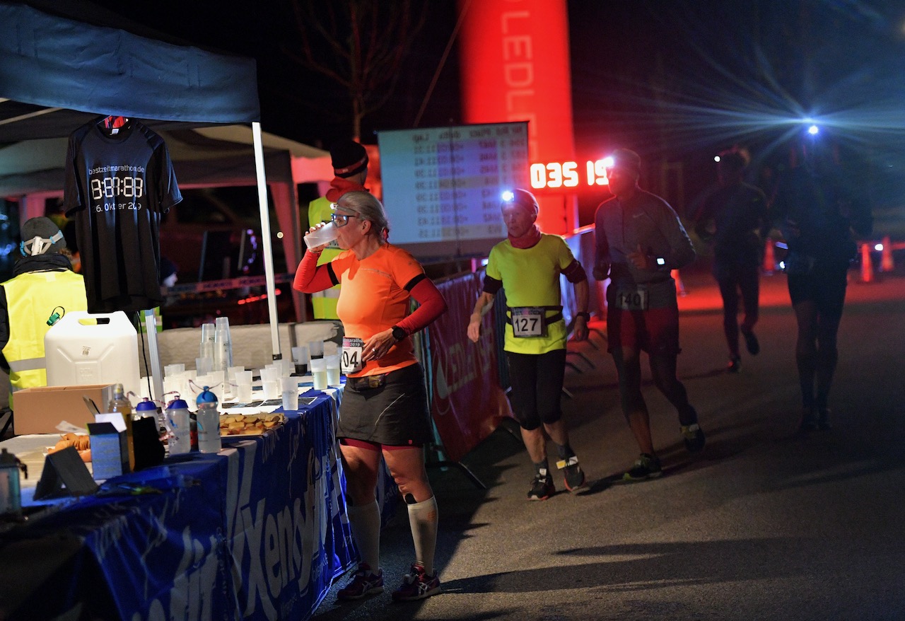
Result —
[[94, 413], [85, 405], [82, 396], [89, 397], [103, 412], [113, 396], [113, 385], [43, 386], [19, 390], [15, 393], [15, 435], [59, 434], [56, 425], [61, 421], [87, 427], [94, 422]]

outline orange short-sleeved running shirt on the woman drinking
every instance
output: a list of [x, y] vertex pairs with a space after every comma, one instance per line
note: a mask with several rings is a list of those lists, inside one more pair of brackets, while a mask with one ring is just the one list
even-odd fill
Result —
[[[330, 264], [342, 285], [337, 315], [345, 335], [363, 340], [389, 330], [405, 319], [411, 309], [411, 296], [405, 291], [405, 285], [424, 273], [421, 263], [392, 244], [380, 246], [364, 261], [358, 261], [355, 253], [346, 250]], [[350, 375], [362, 377], [386, 373], [415, 362], [412, 339], [405, 337], [390, 348], [386, 356], [368, 361], [365, 368]]]

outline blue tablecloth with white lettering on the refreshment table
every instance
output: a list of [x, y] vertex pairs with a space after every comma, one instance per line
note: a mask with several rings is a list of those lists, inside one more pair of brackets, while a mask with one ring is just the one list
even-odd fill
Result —
[[308, 618], [357, 559], [336, 402], [315, 395], [265, 435], [168, 458], [0, 534], [0, 617]]

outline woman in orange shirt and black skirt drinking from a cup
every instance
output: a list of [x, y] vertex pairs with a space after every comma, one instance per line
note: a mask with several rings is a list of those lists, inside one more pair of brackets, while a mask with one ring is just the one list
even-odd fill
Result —
[[[331, 224], [345, 252], [318, 265], [326, 244], [311, 247], [302, 257], [293, 287], [314, 293], [342, 285], [337, 314], [346, 335], [341, 364], [347, 379], [337, 437], [346, 469], [348, 519], [361, 562], [337, 595], [357, 599], [384, 590], [375, 498], [382, 454], [405, 499], [415, 552], [414, 564], [393, 599], [422, 599], [440, 590], [433, 568], [437, 503], [424, 469], [424, 444], [431, 437], [424, 369], [414, 357], [409, 335], [443, 314], [446, 302], [421, 264], [386, 241], [389, 224], [375, 196], [344, 194]], [[322, 226], [311, 227], [310, 233]], [[420, 304], [411, 314], [410, 299]]]

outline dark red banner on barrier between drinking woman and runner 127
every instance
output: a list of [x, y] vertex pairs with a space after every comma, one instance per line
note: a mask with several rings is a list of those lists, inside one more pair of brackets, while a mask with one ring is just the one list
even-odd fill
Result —
[[491, 435], [501, 416], [511, 416], [509, 400], [500, 387], [492, 315], [484, 316], [481, 339], [468, 338], [468, 320], [481, 293], [477, 274], [437, 283], [449, 305], [428, 327], [431, 349], [431, 415], [453, 462]]

